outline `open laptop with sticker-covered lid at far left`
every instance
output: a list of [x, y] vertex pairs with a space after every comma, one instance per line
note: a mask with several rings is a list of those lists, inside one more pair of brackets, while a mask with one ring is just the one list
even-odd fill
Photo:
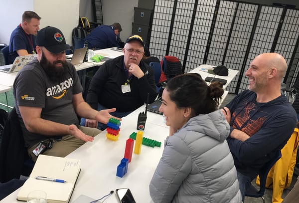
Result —
[[32, 61], [34, 58], [36, 58], [36, 54], [31, 54], [31, 55], [26, 55], [26, 56], [17, 56], [13, 63], [5, 66], [4, 68], [0, 68], [0, 71], [5, 72], [5, 73], [13, 73], [20, 71], [24, 65]]

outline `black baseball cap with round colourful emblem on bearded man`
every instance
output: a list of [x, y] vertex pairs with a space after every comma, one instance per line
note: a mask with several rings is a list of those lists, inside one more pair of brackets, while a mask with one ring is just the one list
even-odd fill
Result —
[[71, 50], [66, 44], [65, 38], [60, 29], [47, 26], [37, 32], [36, 45], [44, 46], [51, 53], [60, 53], [65, 50]]

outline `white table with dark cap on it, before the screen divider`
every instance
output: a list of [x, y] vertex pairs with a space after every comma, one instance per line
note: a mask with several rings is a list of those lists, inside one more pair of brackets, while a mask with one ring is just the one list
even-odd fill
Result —
[[[191, 70], [189, 73], [198, 73], [201, 75], [202, 79], [205, 79], [206, 77], [214, 77], [214, 74], [210, 74], [208, 72], [201, 71], [201, 69], [206, 69], [206, 68], [212, 68], [214, 66], [212, 65], [207, 65], [203, 64], [200, 65], [193, 70]], [[220, 76], [216, 75], [216, 78], [221, 78], [227, 80], [227, 83], [223, 85], [223, 89], [226, 89], [226, 87], [231, 83], [231, 81], [236, 77], [236, 75], [239, 73], [239, 70], [233, 70], [233, 69], [228, 69], [228, 76]]]

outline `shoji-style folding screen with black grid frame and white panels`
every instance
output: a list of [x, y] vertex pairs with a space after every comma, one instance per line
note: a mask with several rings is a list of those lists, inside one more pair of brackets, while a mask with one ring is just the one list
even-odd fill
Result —
[[184, 72], [200, 64], [240, 70], [227, 90], [247, 89], [247, 70], [260, 53], [278, 52], [288, 62], [284, 83], [299, 72], [299, 10], [229, 0], [155, 0], [149, 48], [180, 59]]

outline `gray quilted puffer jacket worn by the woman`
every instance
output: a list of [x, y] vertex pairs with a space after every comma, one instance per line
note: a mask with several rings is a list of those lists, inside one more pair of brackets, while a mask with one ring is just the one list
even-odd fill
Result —
[[237, 171], [226, 138], [230, 126], [218, 110], [191, 118], [166, 138], [149, 184], [155, 203], [241, 203]]

